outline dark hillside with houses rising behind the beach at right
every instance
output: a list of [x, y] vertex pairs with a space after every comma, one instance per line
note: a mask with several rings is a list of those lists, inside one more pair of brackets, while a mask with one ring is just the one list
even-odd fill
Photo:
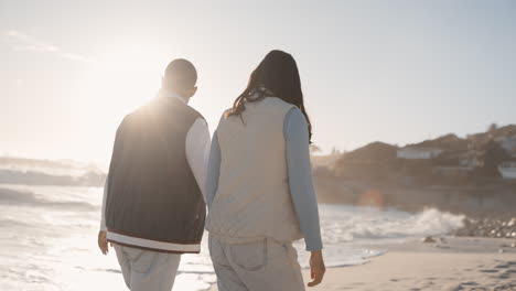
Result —
[[[372, 142], [314, 169], [319, 200], [406, 211], [433, 206], [458, 213], [514, 212], [516, 181], [503, 180], [497, 171], [510, 153], [501, 142], [514, 139], [514, 133], [512, 125], [466, 138], [450, 133], [404, 148]], [[402, 149], [438, 149], [439, 154], [397, 158]]]

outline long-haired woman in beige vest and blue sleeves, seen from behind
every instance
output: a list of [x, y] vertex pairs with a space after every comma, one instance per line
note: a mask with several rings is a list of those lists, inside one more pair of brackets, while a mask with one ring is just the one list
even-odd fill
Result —
[[213, 137], [206, 200], [218, 290], [304, 290], [292, 241], [305, 239], [313, 281], [324, 272], [298, 66], [272, 51], [221, 118]]

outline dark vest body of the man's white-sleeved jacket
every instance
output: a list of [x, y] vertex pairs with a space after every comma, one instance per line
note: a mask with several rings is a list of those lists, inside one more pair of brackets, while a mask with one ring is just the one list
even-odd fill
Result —
[[186, 133], [197, 118], [203, 117], [181, 100], [158, 97], [123, 119], [109, 166], [109, 233], [170, 244], [201, 242], [206, 208], [185, 149]]

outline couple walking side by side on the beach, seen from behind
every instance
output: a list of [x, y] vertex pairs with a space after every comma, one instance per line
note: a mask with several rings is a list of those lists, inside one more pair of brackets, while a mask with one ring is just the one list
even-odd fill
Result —
[[119, 126], [100, 250], [111, 244], [130, 290], [170, 291], [181, 255], [201, 251], [206, 228], [218, 290], [293, 291], [304, 283], [292, 241], [304, 237], [308, 285], [319, 284], [325, 267], [311, 125], [295, 61], [267, 54], [212, 142], [203, 116], [187, 106], [196, 80], [189, 61], [173, 61], [159, 96]]

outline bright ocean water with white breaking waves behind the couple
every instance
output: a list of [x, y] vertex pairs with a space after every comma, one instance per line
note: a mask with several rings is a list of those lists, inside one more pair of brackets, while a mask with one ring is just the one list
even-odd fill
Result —
[[[101, 187], [0, 184], [0, 290], [126, 290], [114, 250], [97, 247]], [[406, 213], [320, 204], [327, 267], [366, 263], [405, 241], [445, 234], [463, 216], [426, 209]], [[201, 255], [182, 256], [174, 291], [205, 290], [216, 282], [205, 234]], [[372, 242], [372, 247], [364, 247]], [[295, 248], [303, 268], [309, 254]]]

